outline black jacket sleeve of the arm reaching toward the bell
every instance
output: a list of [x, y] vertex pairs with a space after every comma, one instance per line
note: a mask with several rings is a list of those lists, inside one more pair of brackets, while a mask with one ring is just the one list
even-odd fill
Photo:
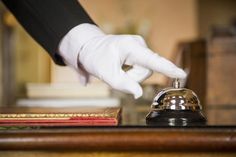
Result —
[[70, 29], [81, 23], [93, 23], [77, 0], [2, 0], [26, 31], [64, 65], [58, 44]]

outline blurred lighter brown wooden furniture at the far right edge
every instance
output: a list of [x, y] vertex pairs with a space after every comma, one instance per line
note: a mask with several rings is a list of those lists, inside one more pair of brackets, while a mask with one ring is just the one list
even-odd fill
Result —
[[236, 104], [236, 38], [214, 38], [208, 42], [207, 104]]

